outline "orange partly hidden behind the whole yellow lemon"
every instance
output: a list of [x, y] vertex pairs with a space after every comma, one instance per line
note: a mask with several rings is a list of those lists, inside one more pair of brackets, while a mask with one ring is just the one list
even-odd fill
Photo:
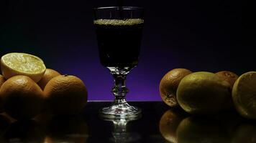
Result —
[[168, 104], [170, 107], [178, 106], [176, 99], [178, 84], [183, 77], [186, 77], [186, 75], [191, 73], [192, 71], [188, 69], [173, 69], [165, 74], [165, 76], [161, 79], [159, 86], [160, 96], [165, 104]]

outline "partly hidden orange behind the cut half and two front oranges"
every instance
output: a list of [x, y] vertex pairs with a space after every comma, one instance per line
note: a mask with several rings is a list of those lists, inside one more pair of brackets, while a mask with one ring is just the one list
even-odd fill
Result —
[[45, 89], [45, 85], [50, 81], [50, 79], [52, 79], [53, 77], [57, 77], [58, 75], [60, 75], [58, 71], [55, 71], [53, 69], [46, 69], [45, 74], [42, 76], [42, 79], [40, 79], [40, 81], [37, 82], [37, 84], [43, 90]]

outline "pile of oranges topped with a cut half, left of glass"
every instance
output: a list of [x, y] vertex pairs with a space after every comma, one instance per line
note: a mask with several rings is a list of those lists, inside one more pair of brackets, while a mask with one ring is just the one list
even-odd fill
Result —
[[0, 112], [14, 119], [32, 119], [42, 111], [78, 114], [86, 105], [88, 93], [81, 79], [46, 69], [37, 56], [5, 54], [1, 74]]

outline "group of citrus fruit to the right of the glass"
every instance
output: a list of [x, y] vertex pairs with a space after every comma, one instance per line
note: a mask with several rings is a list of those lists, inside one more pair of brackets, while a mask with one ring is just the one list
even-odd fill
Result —
[[192, 72], [173, 69], [160, 81], [160, 96], [170, 107], [190, 114], [216, 114], [225, 109], [256, 119], [256, 71], [240, 77], [232, 71]]

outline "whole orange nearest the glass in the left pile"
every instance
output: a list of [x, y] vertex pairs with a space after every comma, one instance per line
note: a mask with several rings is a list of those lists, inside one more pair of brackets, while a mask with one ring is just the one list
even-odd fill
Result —
[[46, 108], [52, 114], [78, 114], [87, 102], [83, 81], [72, 75], [52, 78], [45, 86]]

